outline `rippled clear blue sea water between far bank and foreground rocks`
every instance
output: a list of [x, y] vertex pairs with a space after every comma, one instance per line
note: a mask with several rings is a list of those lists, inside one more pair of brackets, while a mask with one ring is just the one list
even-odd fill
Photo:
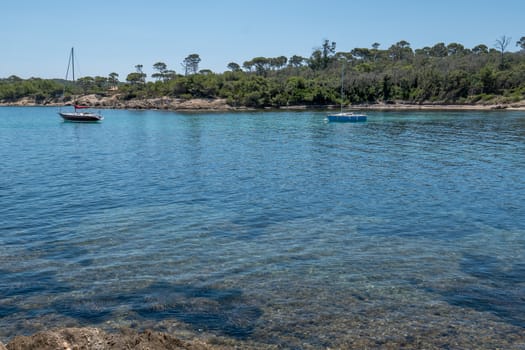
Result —
[[0, 340], [525, 348], [525, 113], [0, 108]]

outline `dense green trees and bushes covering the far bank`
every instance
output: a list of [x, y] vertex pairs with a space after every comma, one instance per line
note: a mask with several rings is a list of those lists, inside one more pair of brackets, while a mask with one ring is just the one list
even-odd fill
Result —
[[508, 52], [510, 38], [501, 37], [493, 48], [467, 49], [458, 43], [437, 43], [413, 50], [406, 41], [380, 49], [355, 48], [336, 52], [328, 40], [308, 58], [294, 55], [255, 57], [242, 66], [231, 62], [229, 71], [199, 70], [198, 54], [183, 62], [184, 74], [163, 62], [147, 81], [142, 65], [125, 82], [118, 74], [83, 77], [74, 84], [63, 80], [11, 76], [0, 80], [0, 101], [34, 98], [36, 103], [79, 94], [119, 94], [124, 100], [160, 96], [225, 98], [231, 105], [266, 107], [344, 103], [512, 103], [525, 96], [525, 37], [516, 42], [521, 51]]

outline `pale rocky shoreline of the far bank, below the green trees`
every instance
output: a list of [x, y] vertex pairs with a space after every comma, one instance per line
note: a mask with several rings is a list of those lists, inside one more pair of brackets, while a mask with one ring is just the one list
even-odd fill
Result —
[[[123, 99], [119, 94], [112, 96], [84, 95], [72, 99], [74, 103], [94, 108], [103, 109], [161, 109], [172, 111], [237, 111], [248, 110], [245, 106], [231, 106], [226, 99], [181, 99], [172, 97], [159, 97], [147, 99]], [[67, 104], [73, 104], [70, 101]], [[63, 106], [63, 102], [56, 100], [35, 101], [32, 98], [22, 98], [15, 102], [1, 102], [0, 106]], [[283, 110], [305, 109], [337, 109], [339, 106], [286, 106]], [[349, 106], [348, 110], [377, 110], [377, 111], [402, 111], [402, 110], [525, 110], [525, 100], [512, 104], [408, 104], [408, 103], [377, 103]]]

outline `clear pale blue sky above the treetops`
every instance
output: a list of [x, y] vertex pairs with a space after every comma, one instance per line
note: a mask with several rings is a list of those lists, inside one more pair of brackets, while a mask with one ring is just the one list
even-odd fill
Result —
[[324, 39], [337, 51], [413, 49], [438, 42], [494, 46], [525, 36], [524, 0], [2, 0], [0, 77], [63, 78], [69, 49], [77, 76], [120, 80], [142, 64], [182, 72], [197, 53], [200, 69], [226, 70], [254, 57], [309, 57]]

